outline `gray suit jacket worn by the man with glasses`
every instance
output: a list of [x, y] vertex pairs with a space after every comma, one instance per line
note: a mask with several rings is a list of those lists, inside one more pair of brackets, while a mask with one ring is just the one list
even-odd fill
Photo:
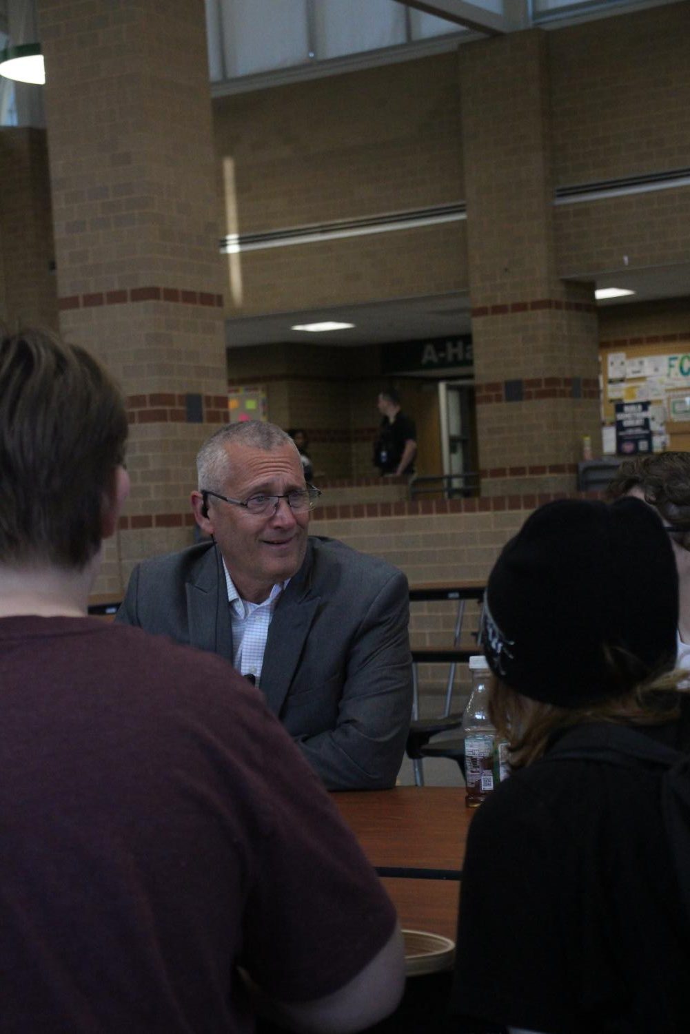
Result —
[[[409, 612], [401, 571], [314, 536], [278, 599], [261, 689], [331, 790], [395, 783], [412, 706]], [[232, 663], [218, 550], [202, 543], [139, 565], [116, 620]]]

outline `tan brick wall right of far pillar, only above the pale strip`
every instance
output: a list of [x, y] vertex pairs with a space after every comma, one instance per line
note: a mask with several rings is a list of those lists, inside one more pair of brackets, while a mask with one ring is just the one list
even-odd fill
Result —
[[687, 166], [689, 53], [687, 2], [549, 32], [557, 185]]

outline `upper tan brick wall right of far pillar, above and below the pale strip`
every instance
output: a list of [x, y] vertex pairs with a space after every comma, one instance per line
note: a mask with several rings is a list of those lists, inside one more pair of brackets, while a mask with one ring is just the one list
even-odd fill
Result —
[[[548, 42], [557, 185], [688, 166], [690, 4], [572, 26]], [[563, 205], [554, 223], [563, 276], [686, 262], [690, 190]]]

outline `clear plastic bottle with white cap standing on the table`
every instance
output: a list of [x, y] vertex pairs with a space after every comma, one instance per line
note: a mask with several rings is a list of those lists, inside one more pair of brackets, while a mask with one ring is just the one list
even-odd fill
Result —
[[488, 677], [490, 674], [486, 658], [481, 655], [470, 658], [472, 693], [462, 714], [464, 735], [464, 803], [467, 808], [477, 808], [496, 784], [494, 749], [496, 728], [488, 717]]

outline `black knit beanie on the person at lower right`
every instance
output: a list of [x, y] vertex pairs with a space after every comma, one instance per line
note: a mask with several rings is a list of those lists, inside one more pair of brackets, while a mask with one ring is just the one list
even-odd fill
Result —
[[673, 552], [652, 507], [561, 499], [535, 511], [499, 556], [482, 648], [513, 690], [579, 707], [617, 692], [604, 644], [646, 673], [672, 668], [678, 606]]

